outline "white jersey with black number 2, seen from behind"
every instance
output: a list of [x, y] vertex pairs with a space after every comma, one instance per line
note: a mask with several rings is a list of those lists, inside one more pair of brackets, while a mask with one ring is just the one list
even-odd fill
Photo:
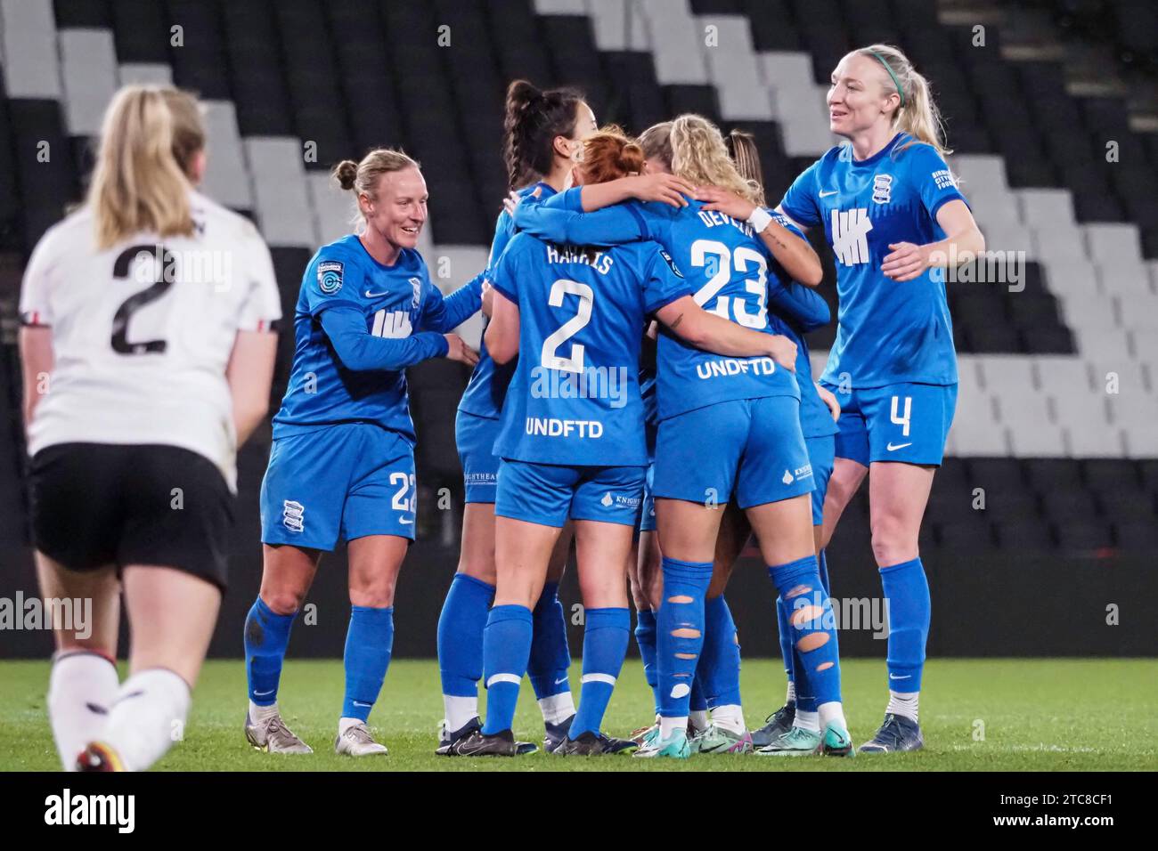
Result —
[[281, 316], [270, 251], [245, 218], [190, 192], [191, 237], [138, 234], [95, 247], [85, 207], [44, 234], [21, 318], [52, 329], [54, 365], [28, 430], [57, 443], [162, 443], [196, 452], [236, 490], [226, 366], [237, 331]]

